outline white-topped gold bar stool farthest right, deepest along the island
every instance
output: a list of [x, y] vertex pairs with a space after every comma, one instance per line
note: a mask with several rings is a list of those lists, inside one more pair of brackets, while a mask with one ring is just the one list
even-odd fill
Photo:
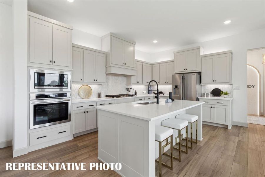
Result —
[[[191, 114], [178, 114], [175, 116], [176, 119], [182, 119], [182, 120], [186, 120], [191, 124], [191, 146], [189, 148], [192, 149], [192, 143], [195, 142], [197, 144], [198, 142], [198, 116], [196, 115], [191, 115]], [[192, 124], [196, 122], [196, 136], [195, 136], [195, 141], [193, 141], [193, 137], [192, 137], [192, 133], [193, 133], [193, 129], [192, 129]]]

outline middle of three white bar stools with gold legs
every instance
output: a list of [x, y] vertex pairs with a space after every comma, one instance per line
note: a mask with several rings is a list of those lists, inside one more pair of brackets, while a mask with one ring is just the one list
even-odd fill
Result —
[[[172, 129], [175, 129], [178, 131], [178, 136], [176, 137], [176, 140], [177, 140], [177, 138], [179, 138], [179, 141], [178, 142], [176, 141], [176, 144], [178, 144], [178, 148], [176, 148], [174, 146], [173, 146], [173, 148], [177, 149], [179, 151], [179, 157], [177, 158], [177, 157], [173, 156], [173, 158], [181, 161], [181, 151], [188, 154], [188, 138], [187, 138], [188, 137], [188, 121], [181, 120], [181, 119], [175, 119], [175, 118], [169, 118], [169, 119], [162, 121], [162, 126], [172, 128]], [[184, 128], [186, 128], [186, 138], [185, 138], [186, 150], [181, 149], [181, 140], [182, 140], [181, 139], [181, 130], [183, 130]], [[169, 143], [171, 143], [171, 142], [167, 142], [167, 140], [166, 140], [166, 144], [163, 146], [163, 154], [164, 155], [169, 155], [169, 154], [164, 152], [164, 147], [166, 145], [168, 145]]]

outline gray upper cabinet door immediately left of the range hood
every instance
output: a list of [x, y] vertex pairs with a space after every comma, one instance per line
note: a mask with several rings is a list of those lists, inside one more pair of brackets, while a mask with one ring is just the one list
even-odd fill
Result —
[[96, 53], [96, 82], [106, 82], [106, 54]]

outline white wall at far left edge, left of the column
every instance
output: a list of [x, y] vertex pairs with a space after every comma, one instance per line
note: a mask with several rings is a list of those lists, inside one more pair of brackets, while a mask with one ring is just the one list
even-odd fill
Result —
[[12, 7], [3, 3], [0, 24], [0, 148], [3, 148], [11, 145], [14, 118]]

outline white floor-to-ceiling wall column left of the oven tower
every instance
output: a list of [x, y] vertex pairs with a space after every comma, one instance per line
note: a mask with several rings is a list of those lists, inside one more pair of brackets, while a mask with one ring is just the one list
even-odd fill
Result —
[[13, 1], [14, 129], [13, 157], [28, 153], [27, 0]]

